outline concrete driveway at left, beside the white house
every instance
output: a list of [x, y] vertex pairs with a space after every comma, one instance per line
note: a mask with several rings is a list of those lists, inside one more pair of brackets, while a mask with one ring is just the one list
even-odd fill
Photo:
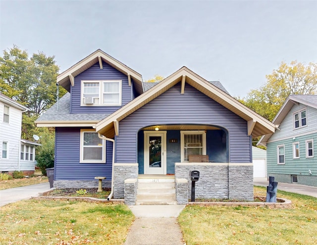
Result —
[[39, 193], [50, 191], [50, 183], [41, 183], [31, 186], [16, 187], [0, 191], [0, 206], [5, 204], [30, 199], [39, 196]]

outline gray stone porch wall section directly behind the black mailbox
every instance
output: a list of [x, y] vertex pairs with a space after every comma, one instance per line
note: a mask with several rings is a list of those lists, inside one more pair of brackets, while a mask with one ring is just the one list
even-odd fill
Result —
[[191, 198], [192, 181], [190, 180], [190, 171], [200, 172], [200, 178], [195, 184], [195, 198], [217, 198], [228, 199], [228, 165], [210, 164], [210, 163], [183, 163], [175, 164], [175, 178], [184, 178], [188, 180], [188, 197]]

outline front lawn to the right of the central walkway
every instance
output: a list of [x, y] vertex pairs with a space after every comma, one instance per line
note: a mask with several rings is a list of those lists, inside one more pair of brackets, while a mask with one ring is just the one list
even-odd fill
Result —
[[[264, 196], [265, 187], [255, 187]], [[189, 205], [179, 215], [187, 245], [317, 244], [317, 198], [278, 191], [290, 209]]]

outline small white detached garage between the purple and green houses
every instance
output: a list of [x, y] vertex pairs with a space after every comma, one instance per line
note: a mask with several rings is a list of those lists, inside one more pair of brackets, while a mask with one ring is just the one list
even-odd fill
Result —
[[253, 178], [266, 178], [266, 150], [252, 147]]

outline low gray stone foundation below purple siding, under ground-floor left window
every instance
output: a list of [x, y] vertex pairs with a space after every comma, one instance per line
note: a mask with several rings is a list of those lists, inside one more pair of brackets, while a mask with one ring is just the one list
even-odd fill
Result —
[[[98, 188], [99, 180], [55, 180], [53, 187], [56, 189], [85, 189], [85, 188]], [[103, 180], [103, 188], [111, 188], [111, 181]]]

